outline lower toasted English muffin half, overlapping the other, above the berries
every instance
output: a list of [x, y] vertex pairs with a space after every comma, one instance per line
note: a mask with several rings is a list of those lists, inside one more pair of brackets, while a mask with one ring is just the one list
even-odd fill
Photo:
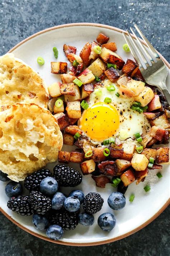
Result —
[[63, 144], [56, 118], [37, 104], [14, 104], [0, 112], [0, 170], [14, 181], [58, 159]]

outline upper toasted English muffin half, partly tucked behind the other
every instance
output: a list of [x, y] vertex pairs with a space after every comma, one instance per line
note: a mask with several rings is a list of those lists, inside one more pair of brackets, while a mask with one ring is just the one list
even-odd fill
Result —
[[0, 106], [36, 103], [47, 108], [48, 99], [43, 79], [32, 68], [13, 53], [0, 57]]

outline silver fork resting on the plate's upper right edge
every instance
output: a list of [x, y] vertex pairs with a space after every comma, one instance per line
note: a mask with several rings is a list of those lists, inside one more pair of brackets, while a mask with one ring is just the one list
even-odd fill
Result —
[[[143, 41], [146, 43], [147, 48], [145, 48], [141, 41], [138, 39], [134, 31], [131, 29], [134, 37], [129, 33], [127, 30], [128, 36], [126, 33], [123, 33], [124, 39], [126, 40], [131, 53], [136, 60], [137, 64], [139, 65], [140, 71], [142, 73], [143, 78], [149, 85], [157, 86], [162, 93], [165, 95], [168, 104], [170, 105], [170, 93], [166, 87], [166, 77], [168, 74], [168, 69], [157, 54], [155, 48], [151, 45], [151, 43], [147, 40], [147, 38], [143, 35], [141, 30], [135, 24], [134, 27], [142, 37]], [[129, 40], [131, 39], [131, 40]], [[138, 42], [138, 44], [137, 44]]]

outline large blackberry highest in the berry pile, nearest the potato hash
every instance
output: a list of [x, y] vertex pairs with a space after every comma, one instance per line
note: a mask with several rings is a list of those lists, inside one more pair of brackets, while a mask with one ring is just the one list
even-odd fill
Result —
[[53, 170], [53, 176], [61, 187], [76, 187], [82, 181], [81, 174], [69, 166], [56, 165]]

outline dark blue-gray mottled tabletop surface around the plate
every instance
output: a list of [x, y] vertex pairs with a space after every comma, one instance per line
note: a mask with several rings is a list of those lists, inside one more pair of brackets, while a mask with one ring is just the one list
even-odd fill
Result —
[[[0, 0], [0, 54], [6, 53], [33, 33], [59, 24], [94, 22], [126, 30], [137, 23], [156, 49], [169, 61], [170, 1], [164, 0], [163, 3], [168, 6], [137, 6], [137, 1], [120, 0]], [[94, 247], [67, 247], [42, 241], [19, 229], [0, 214], [0, 256], [84, 256], [92, 253], [114, 256], [168, 256], [169, 214], [170, 208], [136, 234], [121, 241]]]

